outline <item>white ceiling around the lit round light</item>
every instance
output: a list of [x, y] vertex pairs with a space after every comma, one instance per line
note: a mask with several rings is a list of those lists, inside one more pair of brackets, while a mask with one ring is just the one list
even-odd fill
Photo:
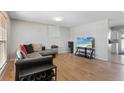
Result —
[[[87, 24], [102, 19], [110, 19], [110, 25], [124, 25], [124, 12], [121, 11], [10, 11], [12, 19], [40, 22], [43, 24], [61, 25], [66, 27]], [[53, 21], [54, 17], [62, 16], [62, 22]]]

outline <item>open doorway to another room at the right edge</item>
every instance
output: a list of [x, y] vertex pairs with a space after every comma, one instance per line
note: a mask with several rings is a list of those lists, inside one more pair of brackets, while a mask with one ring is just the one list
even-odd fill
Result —
[[111, 29], [111, 62], [124, 64], [124, 29]]

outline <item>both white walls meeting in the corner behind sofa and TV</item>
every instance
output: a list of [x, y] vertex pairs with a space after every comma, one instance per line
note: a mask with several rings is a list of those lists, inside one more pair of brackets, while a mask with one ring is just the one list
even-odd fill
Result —
[[60, 47], [59, 52], [62, 53], [68, 50], [68, 40], [74, 41], [74, 47], [76, 47], [76, 37], [91, 36], [95, 38], [96, 58], [108, 60], [108, 20], [72, 27], [70, 31], [69, 28], [59, 27], [60, 36], [56, 37], [49, 36], [49, 26], [40, 23], [12, 20], [11, 58], [14, 57], [20, 43], [42, 43], [47, 48], [50, 48], [51, 44], [57, 44]]

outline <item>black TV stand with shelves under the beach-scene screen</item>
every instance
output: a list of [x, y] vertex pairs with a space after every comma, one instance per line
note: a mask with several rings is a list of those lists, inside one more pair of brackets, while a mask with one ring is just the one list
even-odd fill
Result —
[[[90, 51], [88, 53], [88, 50]], [[90, 47], [76, 47], [75, 55], [84, 56], [86, 58], [93, 58], [95, 49]]]

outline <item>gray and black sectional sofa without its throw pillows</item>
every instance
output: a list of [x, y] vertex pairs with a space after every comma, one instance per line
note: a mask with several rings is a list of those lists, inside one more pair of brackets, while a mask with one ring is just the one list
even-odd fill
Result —
[[[35, 74], [42, 70], [42, 67], [46, 66], [54, 67], [53, 65], [53, 58], [55, 58], [55, 55], [58, 53], [58, 49], [51, 48], [51, 49], [45, 49], [37, 52], [32, 52], [27, 54], [27, 57], [24, 59], [17, 59], [15, 62], [15, 80], [19, 81], [21, 73], [29, 73], [29, 74]], [[37, 67], [40, 69], [38, 71], [33, 71], [33, 69], [37, 69]], [[30, 70], [28, 70], [30, 69]], [[46, 68], [47, 69], [47, 68]], [[28, 71], [28, 72], [27, 72]]]

